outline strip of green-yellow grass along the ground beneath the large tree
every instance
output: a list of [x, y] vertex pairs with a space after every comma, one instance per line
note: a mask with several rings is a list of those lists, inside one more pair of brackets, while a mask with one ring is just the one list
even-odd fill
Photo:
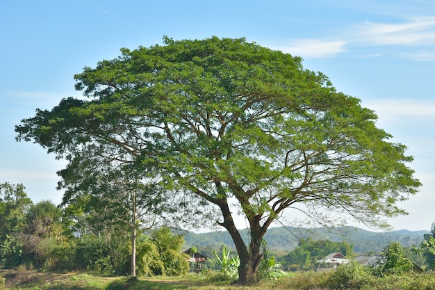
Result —
[[[306, 272], [280, 280], [265, 280], [255, 286], [232, 285], [219, 275], [186, 275], [129, 280], [126, 277], [101, 277], [85, 273], [41, 273], [38, 271], [0, 271], [0, 289], [22, 290], [432, 290], [435, 273], [408, 273], [386, 277], [352, 277], [347, 286], [331, 287], [334, 271]], [[4, 286], [3, 283], [4, 282]], [[328, 284], [329, 283], [329, 284]], [[3, 288], [2, 288], [3, 287]]]

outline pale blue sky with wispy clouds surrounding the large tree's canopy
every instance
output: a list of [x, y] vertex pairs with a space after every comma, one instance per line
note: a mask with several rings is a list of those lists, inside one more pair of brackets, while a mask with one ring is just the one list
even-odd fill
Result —
[[22, 183], [34, 201], [60, 202], [56, 161], [15, 141], [15, 124], [80, 97], [74, 74], [120, 48], [245, 37], [304, 58], [304, 67], [375, 110], [378, 126], [409, 147], [423, 186], [400, 204], [395, 229], [435, 220], [435, 1], [0, 0], [0, 183]]

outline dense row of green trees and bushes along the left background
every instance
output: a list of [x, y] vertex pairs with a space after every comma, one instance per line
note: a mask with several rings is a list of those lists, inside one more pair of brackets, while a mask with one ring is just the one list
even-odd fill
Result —
[[[95, 217], [93, 217], [95, 218]], [[43, 200], [33, 203], [22, 184], [0, 184], [0, 266], [56, 271], [97, 271], [126, 275], [131, 266], [128, 233], [110, 223], [87, 223]], [[136, 269], [140, 275], [180, 275], [189, 271], [181, 252], [183, 236], [167, 227], [138, 232]]]

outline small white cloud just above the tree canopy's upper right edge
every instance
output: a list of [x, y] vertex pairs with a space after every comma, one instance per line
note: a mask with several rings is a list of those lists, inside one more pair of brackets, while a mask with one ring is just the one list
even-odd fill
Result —
[[307, 58], [329, 58], [345, 52], [346, 42], [343, 40], [316, 40], [297, 39], [292, 40], [285, 47], [275, 47], [293, 56]]

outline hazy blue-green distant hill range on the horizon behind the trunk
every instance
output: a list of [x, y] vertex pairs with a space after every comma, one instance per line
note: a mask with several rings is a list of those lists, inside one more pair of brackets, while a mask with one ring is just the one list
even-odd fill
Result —
[[[243, 238], [248, 241], [247, 229], [242, 231]], [[234, 248], [234, 243], [228, 232], [208, 232], [196, 234], [184, 230], [177, 230], [177, 233], [183, 234], [186, 241], [185, 247], [190, 248], [195, 245], [198, 250], [200, 248], [218, 249], [221, 245], [227, 245], [229, 248]], [[402, 246], [409, 247], [418, 245], [423, 234], [429, 231], [412, 232], [407, 229], [402, 229], [394, 232], [370, 232], [358, 227], [334, 227], [309, 229], [301, 227], [272, 227], [265, 234], [270, 250], [293, 250], [297, 247], [299, 239], [311, 237], [313, 240], [329, 240], [329, 241], [347, 241], [354, 245], [355, 253], [381, 252], [381, 250], [389, 245], [391, 241], [398, 241]]]

